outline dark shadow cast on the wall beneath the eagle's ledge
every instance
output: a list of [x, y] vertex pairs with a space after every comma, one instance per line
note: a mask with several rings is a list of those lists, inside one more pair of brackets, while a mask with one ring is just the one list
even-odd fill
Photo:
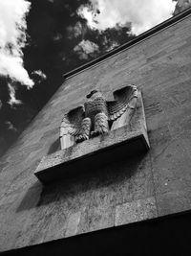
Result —
[[[147, 157], [148, 156], [148, 157]], [[71, 205], [76, 200], [90, 201], [94, 194], [93, 192], [105, 191], [114, 194], [114, 200], [111, 203], [116, 203], [118, 189], [121, 184], [129, 183], [129, 193], [137, 186], [139, 176], [145, 175], [142, 170], [145, 169], [145, 164], [148, 162], [149, 154], [144, 153], [127, 160], [117, 161], [110, 166], [105, 166], [96, 172], [92, 172], [91, 166], [88, 172], [65, 178], [59, 182], [43, 186], [39, 181], [28, 190], [25, 197], [22, 199], [17, 212], [36, 208], [42, 205], [48, 205], [53, 202], [66, 202]], [[128, 187], [127, 187], [128, 190]], [[128, 193], [128, 192], [127, 192]], [[92, 196], [91, 196], [92, 195]], [[77, 199], [78, 198], [78, 199]]]

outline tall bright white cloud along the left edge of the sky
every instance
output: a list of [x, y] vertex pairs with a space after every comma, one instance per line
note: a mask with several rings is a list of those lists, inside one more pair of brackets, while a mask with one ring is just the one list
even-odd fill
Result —
[[24, 68], [22, 48], [26, 44], [26, 15], [30, 11], [26, 0], [0, 0], [0, 76], [32, 87]]

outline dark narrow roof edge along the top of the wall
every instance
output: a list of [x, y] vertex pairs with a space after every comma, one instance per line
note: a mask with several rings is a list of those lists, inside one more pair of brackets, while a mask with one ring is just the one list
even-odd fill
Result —
[[98, 64], [102, 60], [110, 58], [110, 57], [116, 55], [117, 53], [121, 52], [122, 50], [128, 49], [129, 47], [135, 45], [139, 41], [141, 41], [141, 40], [143, 40], [143, 39], [145, 39], [145, 38], [147, 38], [151, 35], [154, 35], [154, 34], [158, 33], [159, 31], [163, 30], [164, 28], [167, 28], [167, 27], [173, 25], [174, 23], [180, 21], [181, 19], [185, 18], [186, 16], [189, 16], [190, 14], [191, 14], [191, 8], [188, 8], [185, 11], [180, 12], [179, 14], [177, 14], [177, 15], [175, 15], [175, 16], [173, 16], [173, 17], [171, 17], [171, 18], [169, 18], [169, 19], [167, 19], [167, 20], [165, 20], [161, 23], [159, 23], [159, 25], [153, 27], [152, 29], [136, 36], [133, 40], [130, 40], [130, 41], [118, 46], [117, 48], [108, 52], [107, 54], [104, 54], [104, 55], [102, 55], [98, 58], [95, 58], [95, 59], [93, 59], [93, 60], [91, 60], [91, 61], [89, 61], [89, 62], [87, 62], [87, 63], [69, 71], [69, 72], [67, 72], [67, 73], [65, 73], [63, 75], [64, 79], [65, 80], [69, 79], [70, 77], [72, 77], [72, 76], [74, 76], [74, 75], [76, 75], [76, 74], [78, 74], [78, 73], [80, 73], [80, 72]]

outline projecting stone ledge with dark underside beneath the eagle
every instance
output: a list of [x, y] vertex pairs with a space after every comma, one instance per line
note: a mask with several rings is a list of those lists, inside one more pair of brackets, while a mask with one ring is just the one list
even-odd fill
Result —
[[51, 183], [64, 177], [92, 172], [127, 156], [134, 157], [149, 147], [145, 124], [139, 122], [136, 131], [124, 126], [111, 130], [107, 135], [44, 156], [34, 175], [42, 183]]

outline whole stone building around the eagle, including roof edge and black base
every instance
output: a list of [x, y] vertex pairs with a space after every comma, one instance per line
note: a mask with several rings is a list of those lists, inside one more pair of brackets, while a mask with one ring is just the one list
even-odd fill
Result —
[[[142, 93], [150, 150], [116, 157], [96, 172], [94, 161], [85, 173], [75, 165], [75, 175], [43, 185], [34, 171], [43, 156], [60, 151], [63, 113], [95, 88], [111, 98], [124, 83], [136, 84]], [[190, 9], [66, 74], [1, 159], [2, 255], [165, 255], [172, 248], [187, 255], [190, 99]]]

